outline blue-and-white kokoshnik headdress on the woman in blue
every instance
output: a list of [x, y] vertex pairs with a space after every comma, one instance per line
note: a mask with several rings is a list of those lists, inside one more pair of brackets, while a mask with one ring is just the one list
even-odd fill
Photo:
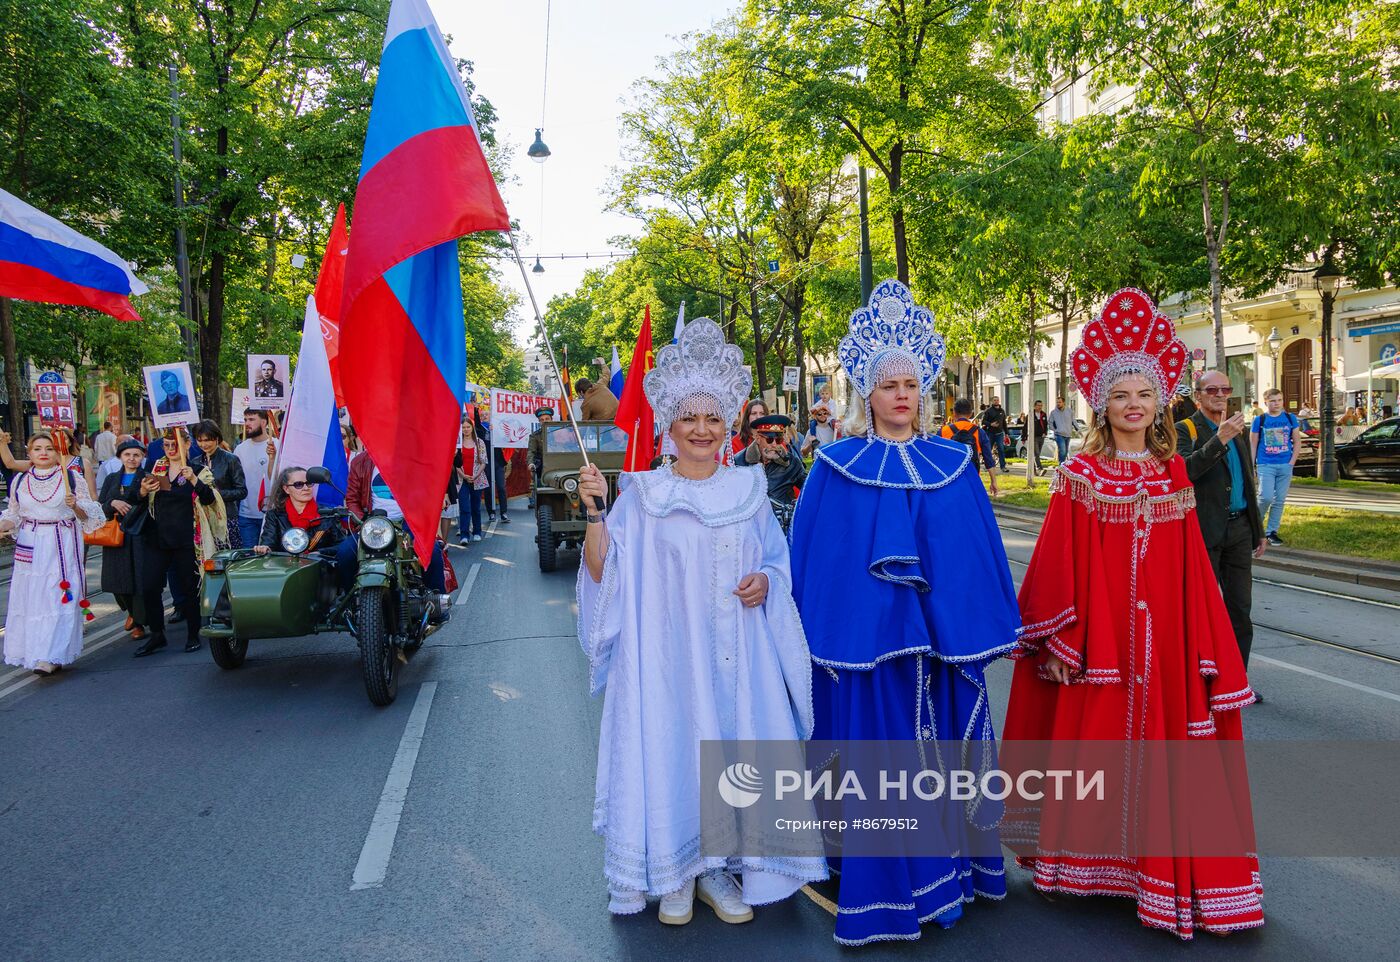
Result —
[[875, 430], [869, 396], [890, 377], [918, 378], [918, 431], [923, 433], [924, 396], [944, 368], [946, 347], [934, 330], [934, 315], [914, 304], [914, 295], [897, 280], [886, 280], [871, 291], [868, 307], [851, 314], [851, 330], [841, 337], [837, 357], [865, 400], [867, 433]]

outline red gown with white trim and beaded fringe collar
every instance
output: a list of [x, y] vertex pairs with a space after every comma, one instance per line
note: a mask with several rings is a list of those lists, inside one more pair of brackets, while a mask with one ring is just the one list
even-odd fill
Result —
[[[1043, 802], [1019, 825], [1033, 830], [1019, 839], [1029, 844], [1019, 846], [1028, 854], [1018, 863], [1035, 871], [1043, 892], [1131, 896], [1142, 924], [1182, 938], [1196, 927], [1261, 926], [1247, 776], [1242, 760], [1211, 760], [1215, 751], [1229, 758], [1240, 748], [1225, 742], [1242, 738], [1239, 709], [1254, 693], [1197, 527], [1186, 463], [1177, 455], [1165, 465], [1078, 455], [1058, 468], [1051, 492], [1019, 594], [1025, 627], [1011, 655], [1019, 664], [1004, 738], [1053, 741], [1053, 751], [1081, 758], [1113, 749], [1176, 762], [1149, 773], [1159, 776], [1151, 790], [1140, 781], [1140, 791], [1126, 791], [1121, 815], [1109, 814], [1110, 822], [1121, 818], [1110, 830], [1117, 837], [1121, 828], [1123, 847], [1075, 847], [1064, 828], [1075, 812]], [[1070, 685], [1046, 674], [1047, 651], [1070, 667]], [[1184, 751], [1170, 755], [1176, 746]], [[1203, 756], [1212, 777], [1201, 773]], [[1203, 791], [1212, 793], [1204, 805]], [[1025, 818], [1030, 809], [1018, 811]], [[1016, 818], [1008, 808], [1002, 835], [1012, 847]], [[1221, 821], [1249, 839], [1231, 849], [1239, 854], [1194, 854]], [[1145, 851], [1130, 836], [1166, 837], [1169, 850]]]

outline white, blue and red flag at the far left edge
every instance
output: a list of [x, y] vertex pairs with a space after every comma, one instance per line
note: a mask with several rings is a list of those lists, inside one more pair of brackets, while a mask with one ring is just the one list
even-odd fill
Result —
[[140, 321], [132, 295], [146, 290], [112, 251], [0, 190], [0, 297], [76, 304]]

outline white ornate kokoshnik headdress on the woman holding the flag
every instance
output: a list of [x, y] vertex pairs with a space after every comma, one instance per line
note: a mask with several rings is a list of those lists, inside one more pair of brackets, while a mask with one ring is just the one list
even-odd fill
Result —
[[725, 343], [720, 325], [696, 318], [675, 344], [661, 349], [641, 388], [662, 430], [686, 414], [715, 414], [728, 426], [753, 389], [753, 375], [743, 367], [743, 351]]

